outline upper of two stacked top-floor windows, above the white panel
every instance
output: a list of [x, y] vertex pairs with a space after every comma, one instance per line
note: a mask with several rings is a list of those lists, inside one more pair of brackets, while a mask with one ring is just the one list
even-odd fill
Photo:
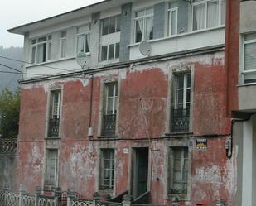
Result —
[[120, 15], [101, 20], [102, 35], [120, 31]]

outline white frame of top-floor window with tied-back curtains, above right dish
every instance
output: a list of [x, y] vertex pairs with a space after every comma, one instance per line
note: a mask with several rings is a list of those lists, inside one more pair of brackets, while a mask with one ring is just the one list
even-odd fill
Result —
[[[152, 9], [152, 13], [151, 14], [147, 14], [147, 10], [151, 10]], [[144, 15], [143, 16], [140, 16], [140, 17], [136, 17], [136, 13], [138, 13], [138, 12], [144, 12]], [[154, 7], [147, 7], [147, 8], [143, 8], [143, 9], [141, 9], [141, 10], [138, 10], [138, 11], [135, 11], [134, 12], [134, 20], [133, 20], [133, 42], [136, 44], [136, 43], [139, 43], [139, 41], [138, 42], [136, 42], [136, 22], [138, 22], [138, 20], [143, 20], [143, 31], [142, 31], [142, 36], [144, 36], [144, 39], [142, 38], [142, 40], [141, 41], [149, 41], [149, 40], [147, 40], [146, 39], [146, 34], [147, 34], [147, 26], [145, 26], [146, 25], [146, 20], [147, 20], [147, 18], [150, 18], [150, 17], [152, 17], [153, 18], [153, 21], [154, 21]], [[154, 28], [154, 25], [153, 25], [153, 28]], [[152, 29], [153, 29], [152, 28]], [[153, 39], [153, 38], [152, 38]], [[140, 42], [141, 42], [140, 41]]]

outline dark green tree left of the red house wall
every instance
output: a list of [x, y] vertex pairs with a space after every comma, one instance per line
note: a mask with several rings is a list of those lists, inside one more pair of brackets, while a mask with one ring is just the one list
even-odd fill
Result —
[[0, 134], [4, 138], [16, 138], [20, 113], [20, 92], [8, 89], [0, 93]]

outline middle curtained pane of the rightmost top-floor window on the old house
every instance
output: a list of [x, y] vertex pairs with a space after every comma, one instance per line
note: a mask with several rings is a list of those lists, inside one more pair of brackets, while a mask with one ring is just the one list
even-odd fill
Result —
[[219, 26], [219, 0], [207, 3], [207, 28]]

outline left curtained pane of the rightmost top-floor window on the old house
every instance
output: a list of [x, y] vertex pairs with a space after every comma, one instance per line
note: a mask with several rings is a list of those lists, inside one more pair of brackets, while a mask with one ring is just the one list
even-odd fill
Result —
[[205, 28], [205, 3], [193, 7], [193, 30]]

